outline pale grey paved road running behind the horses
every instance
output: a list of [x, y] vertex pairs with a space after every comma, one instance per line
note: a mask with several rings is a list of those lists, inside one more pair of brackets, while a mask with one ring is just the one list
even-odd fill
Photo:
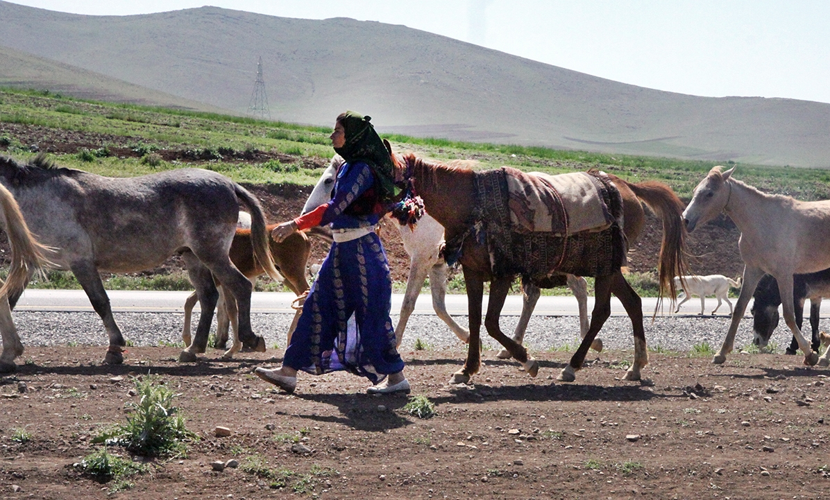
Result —
[[[151, 313], [180, 313], [183, 311], [184, 300], [190, 292], [135, 292], [114, 290], [108, 292], [113, 310], [117, 312], [151, 312]], [[295, 299], [291, 293], [255, 292], [251, 297], [251, 313], [290, 313], [291, 301]], [[392, 312], [397, 313], [403, 303], [403, 294], [393, 294]], [[643, 312], [651, 316], [657, 299], [642, 299]], [[710, 312], [717, 302], [715, 299], [706, 300], [706, 312]], [[735, 303], [735, 300], [733, 300]], [[681, 314], [696, 315], [700, 312], [700, 300], [691, 299], [683, 304]], [[751, 303], [750, 303], [751, 306]], [[486, 297], [485, 297], [486, 307]], [[593, 308], [593, 297], [588, 298], [588, 311]], [[666, 305], [666, 311], [668, 306]], [[92, 306], [81, 290], [42, 290], [27, 289], [17, 303], [17, 309], [22, 311], [92, 311]], [[466, 314], [466, 295], [448, 294], [447, 310], [453, 315]], [[613, 316], [625, 315], [623, 304], [617, 299], [612, 300]], [[415, 314], [434, 314], [432, 299], [423, 294], [417, 300]], [[510, 295], [506, 302], [503, 315], [518, 316], [521, 313], [521, 297]], [[549, 316], [576, 316], [579, 314], [574, 297], [543, 296], [536, 305], [536, 314]], [[729, 306], [720, 306], [718, 315], [727, 315]], [[749, 308], [747, 308], [749, 314]], [[822, 315], [823, 318], [828, 316]]]

